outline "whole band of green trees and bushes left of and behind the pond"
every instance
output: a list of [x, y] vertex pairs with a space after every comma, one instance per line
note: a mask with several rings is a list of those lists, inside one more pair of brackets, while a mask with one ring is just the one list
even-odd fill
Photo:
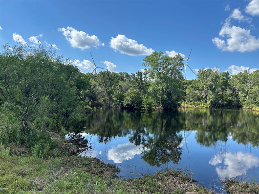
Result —
[[181, 55], [154, 52], [143, 58], [143, 72], [91, 74], [42, 45], [18, 43], [11, 48], [5, 44], [0, 54], [1, 138], [21, 143], [29, 142], [28, 137], [32, 141], [49, 138], [56, 131], [73, 128], [96, 106], [259, 107], [259, 70], [231, 76], [202, 69], [197, 79], [184, 80], [183, 60]]

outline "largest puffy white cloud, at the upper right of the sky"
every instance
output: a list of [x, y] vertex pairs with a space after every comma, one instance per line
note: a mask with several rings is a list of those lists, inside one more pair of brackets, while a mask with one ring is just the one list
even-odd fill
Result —
[[227, 18], [222, 26], [219, 35], [222, 38], [226, 37], [226, 41], [218, 37], [212, 39], [212, 42], [218, 49], [222, 51], [239, 51], [244, 53], [246, 51], [255, 51], [259, 48], [259, 39], [250, 34], [250, 30], [231, 26], [231, 19]]

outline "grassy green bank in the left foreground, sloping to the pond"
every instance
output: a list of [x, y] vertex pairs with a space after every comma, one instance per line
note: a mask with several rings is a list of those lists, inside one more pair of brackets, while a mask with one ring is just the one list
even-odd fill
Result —
[[213, 193], [192, 183], [192, 179], [180, 171], [119, 179], [116, 177], [119, 169], [115, 165], [97, 158], [61, 150], [59, 156], [43, 158], [24, 149], [2, 145], [0, 188], [6, 189], [0, 193]]

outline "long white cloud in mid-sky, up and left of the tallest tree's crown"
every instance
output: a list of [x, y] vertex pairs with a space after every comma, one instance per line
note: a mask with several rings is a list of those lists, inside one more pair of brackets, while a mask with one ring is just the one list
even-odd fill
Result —
[[110, 47], [115, 51], [119, 50], [120, 53], [130, 56], [150, 55], [154, 52], [153, 49], [147, 48], [143, 44], [138, 44], [137, 41], [128, 39], [122, 34], [118, 34], [116, 38], [111, 38]]

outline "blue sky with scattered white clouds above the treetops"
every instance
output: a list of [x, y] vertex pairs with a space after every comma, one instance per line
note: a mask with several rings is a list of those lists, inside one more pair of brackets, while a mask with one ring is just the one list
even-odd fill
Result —
[[192, 69], [259, 69], [257, 0], [0, 3], [1, 45], [39, 40], [84, 72], [93, 70], [90, 52], [97, 66], [134, 73], [152, 51], [187, 58], [191, 49]]

